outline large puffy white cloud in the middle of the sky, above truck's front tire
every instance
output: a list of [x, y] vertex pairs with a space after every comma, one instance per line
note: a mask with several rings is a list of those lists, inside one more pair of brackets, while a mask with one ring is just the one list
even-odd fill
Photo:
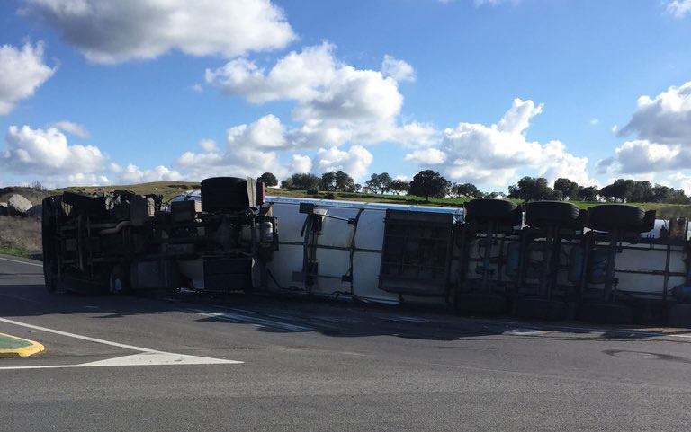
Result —
[[412, 67], [385, 57], [389, 75], [356, 69], [338, 61], [335, 48], [328, 42], [302, 48], [279, 59], [268, 70], [247, 58], [237, 58], [208, 69], [205, 80], [252, 103], [295, 101], [292, 119], [299, 126], [286, 130], [284, 146], [426, 139], [425, 125], [397, 124], [403, 103], [398, 80], [412, 79]]

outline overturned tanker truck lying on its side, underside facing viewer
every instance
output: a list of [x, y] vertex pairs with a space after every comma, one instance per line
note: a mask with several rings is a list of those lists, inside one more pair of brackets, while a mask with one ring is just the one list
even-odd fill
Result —
[[[43, 204], [46, 287], [181, 288], [444, 306], [541, 319], [691, 324], [686, 219], [474, 199], [436, 208], [265, 197], [212, 178], [163, 203], [117, 190]], [[281, 235], [279, 238], [279, 222]]]

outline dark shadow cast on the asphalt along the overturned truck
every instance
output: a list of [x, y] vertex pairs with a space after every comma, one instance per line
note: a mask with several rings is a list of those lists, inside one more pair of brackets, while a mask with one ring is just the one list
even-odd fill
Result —
[[[6, 280], [2, 278], [7, 277]], [[9, 279], [14, 279], [14, 283]], [[140, 295], [49, 294], [42, 284], [26, 284], [36, 275], [0, 275], [0, 316], [90, 314], [96, 320], [137, 314], [194, 313], [200, 322], [249, 324], [257, 331], [317, 331], [330, 337], [361, 338], [388, 335], [398, 338], [457, 340], [498, 335], [507, 339], [584, 338], [647, 339], [660, 331], [582, 323], [521, 322], [514, 318], [459, 316], [447, 310], [412, 306], [359, 304], [264, 295], [146, 292]], [[8, 283], [9, 282], [9, 283]], [[10, 285], [11, 284], [11, 285]], [[669, 334], [691, 334], [676, 331]], [[678, 338], [678, 342], [691, 339]]]

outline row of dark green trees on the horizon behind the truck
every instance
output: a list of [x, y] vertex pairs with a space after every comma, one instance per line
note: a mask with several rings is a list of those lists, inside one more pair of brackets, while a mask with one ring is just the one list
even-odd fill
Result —
[[[265, 172], [258, 181], [268, 186], [277, 186], [278, 179], [271, 172]], [[388, 172], [374, 173], [363, 185], [343, 171], [325, 172], [321, 177], [309, 173], [295, 173], [281, 181], [281, 188], [294, 190], [318, 190], [332, 192], [362, 192], [372, 194], [406, 194], [418, 197], [444, 198], [515, 198], [524, 202], [539, 200], [554, 201], [609, 201], [609, 202], [659, 202], [687, 204], [691, 202], [684, 190], [669, 188], [650, 181], [617, 179], [603, 188], [581, 186], [576, 181], [560, 178], [552, 185], [543, 177], [525, 176], [508, 187], [508, 193], [482, 192], [472, 183], [447, 181], [439, 172], [423, 170], [417, 172], [412, 181], [393, 179]]]

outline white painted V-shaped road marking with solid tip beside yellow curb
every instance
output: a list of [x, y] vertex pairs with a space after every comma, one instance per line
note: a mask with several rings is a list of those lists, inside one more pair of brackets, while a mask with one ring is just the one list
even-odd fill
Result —
[[82, 339], [89, 342], [100, 343], [103, 345], [110, 345], [112, 347], [130, 349], [132, 351], [139, 351], [141, 354], [134, 354], [130, 356], [121, 356], [108, 358], [105, 360], [98, 360], [95, 362], [82, 363], [78, 365], [48, 365], [48, 366], [6, 366], [0, 367], [0, 370], [10, 369], [57, 369], [62, 367], [95, 367], [95, 366], [159, 366], [159, 365], [213, 365], [213, 364], [240, 364], [244, 363], [237, 360], [226, 360], [212, 357], [189, 356], [186, 354], [175, 354], [166, 351], [158, 351], [157, 349], [149, 349], [136, 347], [119, 342], [112, 342], [111, 340], [96, 339], [89, 336], [82, 336], [80, 334], [70, 333], [67, 331], [59, 331], [49, 329], [47, 327], [40, 327], [38, 325], [27, 324], [26, 322], [18, 322], [0, 318], [0, 322], [7, 322], [13, 325], [28, 327], [38, 331], [46, 331], [48, 333], [55, 333], [68, 338]]

